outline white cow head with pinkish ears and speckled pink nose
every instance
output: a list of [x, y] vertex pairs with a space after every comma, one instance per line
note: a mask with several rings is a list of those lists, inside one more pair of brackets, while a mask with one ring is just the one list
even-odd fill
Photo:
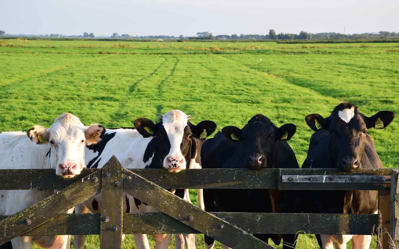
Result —
[[92, 124], [85, 127], [69, 113], [61, 114], [50, 128], [34, 126], [27, 131], [28, 137], [38, 145], [48, 145], [49, 167], [55, 174], [71, 178], [80, 174], [85, 164], [85, 144], [101, 141], [105, 128]]

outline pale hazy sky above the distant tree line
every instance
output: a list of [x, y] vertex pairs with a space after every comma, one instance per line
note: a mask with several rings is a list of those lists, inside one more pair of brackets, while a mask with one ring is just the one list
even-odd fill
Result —
[[1, 0], [10, 34], [399, 32], [399, 0]]

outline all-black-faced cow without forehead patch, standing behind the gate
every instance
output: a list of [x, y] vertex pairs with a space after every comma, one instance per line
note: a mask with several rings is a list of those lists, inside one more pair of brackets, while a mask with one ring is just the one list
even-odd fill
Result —
[[[264, 169], [299, 168], [288, 141], [296, 131], [293, 124], [275, 126], [269, 118], [257, 114], [239, 129], [227, 126], [215, 137], [203, 143], [203, 169]], [[290, 191], [266, 189], [204, 189], [207, 212], [300, 212], [298, 196]], [[254, 234], [263, 241], [269, 238], [276, 244], [283, 239], [283, 248], [295, 247], [296, 235]], [[206, 248], [213, 248], [214, 240], [204, 235]], [[229, 248], [229, 247], [223, 247]]]

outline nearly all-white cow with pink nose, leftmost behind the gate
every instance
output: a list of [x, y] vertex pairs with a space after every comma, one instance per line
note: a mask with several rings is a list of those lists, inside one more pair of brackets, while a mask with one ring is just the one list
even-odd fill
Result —
[[[86, 168], [85, 144], [101, 141], [104, 133], [104, 127], [97, 124], [85, 127], [69, 113], [61, 114], [48, 129], [36, 125], [27, 132], [3, 132], [0, 134], [0, 169], [55, 169], [57, 175], [71, 178]], [[54, 192], [0, 191], [0, 215], [15, 214]], [[67, 211], [72, 212], [73, 208]], [[14, 249], [29, 249], [31, 242], [44, 248], [66, 249], [69, 235], [25, 236], [11, 240]]]

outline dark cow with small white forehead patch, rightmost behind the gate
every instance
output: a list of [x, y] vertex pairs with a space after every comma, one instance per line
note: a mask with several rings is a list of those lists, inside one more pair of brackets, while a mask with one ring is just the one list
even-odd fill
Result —
[[[382, 164], [375, 151], [374, 142], [367, 129], [384, 128], [391, 123], [393, 112], [381, 111], [367, 117], [352, 103], [342, 103], [331, 115], [323, 118], [319, 114], [306, 116], [305, 121], [314, 130], [310, 138], [308, 156], [302, 168], [338, 168], [346, 172], [357, 169], [377, 169]], [[378, 208], [377, 191], [309, 191], [309, 209], [315, 213], [375, 214]], [[346, 248], [352, 239], [352, 248], [368, 249], [371, 235], [318, 236], [322, 249]]]

